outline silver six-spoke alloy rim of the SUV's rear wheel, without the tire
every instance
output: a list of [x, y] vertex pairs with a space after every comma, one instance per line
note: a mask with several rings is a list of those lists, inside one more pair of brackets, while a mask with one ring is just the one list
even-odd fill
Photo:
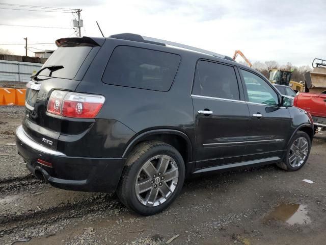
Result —
[[135, 182], [135, 193], [145, 206], [155, 207], [166, 202], [178, 183], [178, 165], [172, 157], [157, 155], [140, 169]]

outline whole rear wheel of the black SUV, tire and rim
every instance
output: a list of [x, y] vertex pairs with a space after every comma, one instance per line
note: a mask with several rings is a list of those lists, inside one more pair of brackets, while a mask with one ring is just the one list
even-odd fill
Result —
[[178, 197], [184, 175], [183, 158], [173, 146], [143, 142], [130, 154], [117, 194], [126, 207], [151, 215], [166, 209]]

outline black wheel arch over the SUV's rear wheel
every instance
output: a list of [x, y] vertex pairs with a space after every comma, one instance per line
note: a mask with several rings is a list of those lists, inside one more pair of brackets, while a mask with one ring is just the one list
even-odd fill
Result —
[[159, 140], [171, 144], [180, 152], [185, 163], [192, 161], [191, 140], [185, 133], [173, 129], [155, 129], [137, 135], [128, 143], [122, 158], [127, 158], [136, 145], [148, 140]]

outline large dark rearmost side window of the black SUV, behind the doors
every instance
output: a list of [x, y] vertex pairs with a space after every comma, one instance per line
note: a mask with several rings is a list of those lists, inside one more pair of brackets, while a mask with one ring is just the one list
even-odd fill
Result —
[[102, 81], [125, 87], [168, 91], [179, 64], [179, 55], [118, 46], [107, 63]]

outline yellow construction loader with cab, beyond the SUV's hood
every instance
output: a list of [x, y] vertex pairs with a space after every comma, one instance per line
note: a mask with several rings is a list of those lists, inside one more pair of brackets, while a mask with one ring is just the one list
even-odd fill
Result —
[[304, 91], [304, 84], [291, 80], [292, 71], [286, 69], [270, 69], [269, 81], [274, 84], [290, 86], [293, 90]]

